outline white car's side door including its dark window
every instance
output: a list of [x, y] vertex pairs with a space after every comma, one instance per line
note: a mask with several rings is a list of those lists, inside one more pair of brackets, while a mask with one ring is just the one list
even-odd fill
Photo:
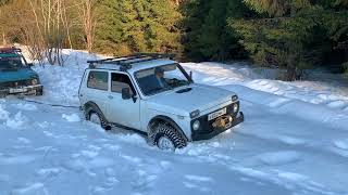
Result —
[[[129, 88], [134, 99], [123, 100], [122, 89]], [[125, 73], [111, 73], [108, 118], [133, 129], [140, 129], [140, 100], [130, 77]]]

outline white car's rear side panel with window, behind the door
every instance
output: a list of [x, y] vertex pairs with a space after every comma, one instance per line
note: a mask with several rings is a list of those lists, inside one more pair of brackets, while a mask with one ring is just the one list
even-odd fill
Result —
[[105, 115], [109, 101], [109, 73], [107, 70], [89, 70], [86, 74], [84, 87], [80, 87], [79, 100], [83, 104], [94, 102]]

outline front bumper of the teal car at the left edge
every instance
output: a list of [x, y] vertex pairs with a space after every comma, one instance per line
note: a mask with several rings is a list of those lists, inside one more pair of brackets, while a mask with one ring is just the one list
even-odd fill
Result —
[[42, 94], [42, 90], [44, 90], [42, 84], [35, 84], [35, 86], [0, 89], [0, 94], [2, 96], [9, 95], [9, 94], [39, 95], [39, 94]]

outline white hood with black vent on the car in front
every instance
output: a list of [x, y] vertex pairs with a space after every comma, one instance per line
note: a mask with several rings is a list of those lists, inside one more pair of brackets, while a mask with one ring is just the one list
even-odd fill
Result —
[[235, 93], [232, 91], [194, 83], [186, 88], [153, 95], [147, 102], [150, 109], [189, 116], [196, 109], [199, 109], [202, 114], [208, 109], [232, 101], [233, 95]]

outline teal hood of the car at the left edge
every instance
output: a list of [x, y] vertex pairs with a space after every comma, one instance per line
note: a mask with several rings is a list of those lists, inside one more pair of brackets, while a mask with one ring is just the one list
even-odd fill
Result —
[[0, 82], [27, 80], [37, 77], [37, 74], [32, 68], [0, 69]]

